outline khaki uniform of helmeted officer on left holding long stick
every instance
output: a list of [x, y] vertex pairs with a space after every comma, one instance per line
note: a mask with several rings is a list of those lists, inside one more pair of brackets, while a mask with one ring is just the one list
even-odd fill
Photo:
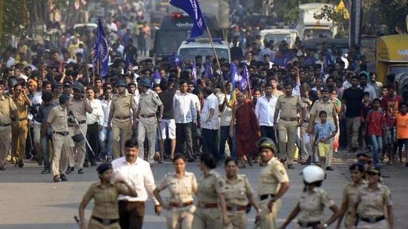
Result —
[[[87, 107], [92, 109], [91, 104], [87, 100], [86, 105], [85, 102], [81, 100], [75, 100], [74, 98], [70, 98], [68, 100], [68, 110], [72, 113], [72, 115], [77, 119], [78, 123], [81, 126], [82, 131], [86, 134], [87, 124], [86, 124], [86, 110]], [[82, 134], [80, 128], [75, 123], [72, 116], [68, 119], [68, 127], [69, 127], [69, 148], [68, 148], [68, 158], [69, 158], [69, 166], [73, 167], [76, 166], [78, 169], [82, 169], [85, 156], [86, 156], [86, 144], [85, 140], [81, 142], [74, 142], [72, 140], [72, 136], [77, 134]], [[86, 136], [84, 136], [85, 138]]]

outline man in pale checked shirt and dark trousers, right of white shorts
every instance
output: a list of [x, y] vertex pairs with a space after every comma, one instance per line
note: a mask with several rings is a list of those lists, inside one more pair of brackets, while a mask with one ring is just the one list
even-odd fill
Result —
[[[183, 153], [188, 162], [193, 162], [192, 129], [193, 125], [197, 125], [197, 111], [192, 96], [187, 93], [187, 88], [187, 82], [182, 80], [180, 91], [176, 92], [173, 97], [176, 152]], [[187, 154], [183, 150], [184, 144], [186, 144]]]

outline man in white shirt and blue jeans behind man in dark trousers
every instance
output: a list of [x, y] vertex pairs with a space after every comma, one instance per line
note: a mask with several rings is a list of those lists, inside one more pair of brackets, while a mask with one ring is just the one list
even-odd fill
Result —
[[100, 101], [102, 109], [104, 110], [104, 124], [102, 125], [102, 130], [99, 131], [99, 139], [102, 142], [101, 153], [105, 153], [106, 160], [112, 160], [112, 140], [111, 140], [111, 130], [108, 128], [109, 120], [109, 110], [111, 108], [112, 101], [112, 89], [104, 89], [105, 99]]

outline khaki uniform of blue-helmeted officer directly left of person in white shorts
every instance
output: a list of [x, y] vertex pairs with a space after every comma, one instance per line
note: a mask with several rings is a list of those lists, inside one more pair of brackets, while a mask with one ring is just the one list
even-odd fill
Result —
[[156, 134], [157, 134], [157, 118], [156, 111], [159, 106], [162, 105], [162, 101], [159, 98], [159, 95], [147, 90], [146, 93], [140, 93], [139, 98], [139, 125], [138, 125], [138, 134], [137, 141], [139, 143], [139, 156], [143, 158], [144, 156], [144, 138], [147, 136], [149, 142], [148, 150], [148, 162], [154, 163], [155, 159], [155, 148], [156, 148]]

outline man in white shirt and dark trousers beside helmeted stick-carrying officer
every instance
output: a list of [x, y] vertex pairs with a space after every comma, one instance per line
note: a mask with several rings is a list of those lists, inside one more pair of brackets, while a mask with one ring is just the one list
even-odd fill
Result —
[[91, 166], [96, 166], [96, 159], [99, 157], [98, 155], [98, 136], [99, 131], [102, 130], [102, 125], [104, 124], [104, 110], [102, 109], [102, 105], [100, 105], [100, 100], [95, 99], [95, 89], [87, 88], [86, 96], [89, 99], [89, 103], [92, 107], [92, 113], [86, 113], [86, 139], [89, 142], [89, 145], [92, 148], [92, 151], [87, 147], [87, 154], [89, 161], [91, 162]]

